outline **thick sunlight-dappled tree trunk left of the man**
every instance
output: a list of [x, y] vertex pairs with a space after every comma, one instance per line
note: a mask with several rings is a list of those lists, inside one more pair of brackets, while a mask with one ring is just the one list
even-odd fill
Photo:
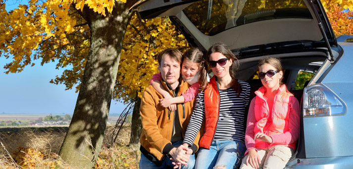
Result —
[[94, 168], [101, 150], [130, 6], [117, 1], [106, 17], [87, 6], [81, 12], [91, 29], [91, 46], [76, 107], [59, 152], [73, 167]]

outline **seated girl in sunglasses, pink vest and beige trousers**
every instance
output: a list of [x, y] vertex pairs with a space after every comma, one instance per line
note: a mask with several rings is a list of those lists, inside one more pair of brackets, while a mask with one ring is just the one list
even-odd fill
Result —
[[261, 59], [258, 72], [263, 86], [250, 103], [241, 169], [283, 169], [299, 137], [299, 103], [282, 84], [279, 59]]

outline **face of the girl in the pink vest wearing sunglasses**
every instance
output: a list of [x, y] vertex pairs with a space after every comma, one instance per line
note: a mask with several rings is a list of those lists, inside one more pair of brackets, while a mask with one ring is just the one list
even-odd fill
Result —
[[[277, 70], [275, 67], [273, 67], [271, 64], [265, 63], [262, 64], [258, 70], [258, 72], [266, 73], [269, 70]], [[276, 74], [274, 74], [272, 77], [268, 77], [267, 74], [263, 79], [261, 79], [262, 85], [266, 89], [274, 89], [277, 90], [279, 88], [279, 82], [282, 78], [283, 72], [278, 71]]]

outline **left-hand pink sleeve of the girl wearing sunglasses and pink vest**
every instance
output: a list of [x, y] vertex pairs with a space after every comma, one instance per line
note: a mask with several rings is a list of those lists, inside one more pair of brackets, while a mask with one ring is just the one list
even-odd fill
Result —
[[247, 129], [245, 130], [245, 146], [247, 146], [247, 151], [245, 152], [244, 155], [247, 155], [249, 150], [251, 150], [251, 149], [256, 150], [255, 141], [253, 140], [253, 137], [255, 135], [253, 133], [253, 129], [256, 125], [256, 118], [255, 118], [255, 114], [254, 114], [255, 98], [252, 99], [252, 102], [250, 103], [250, 107], [249, 107]]

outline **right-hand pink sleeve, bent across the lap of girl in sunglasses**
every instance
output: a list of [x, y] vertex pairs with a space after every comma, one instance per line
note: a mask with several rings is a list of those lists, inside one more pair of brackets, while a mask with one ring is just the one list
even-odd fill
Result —
[[289, 103], [288, 130], [283, 134], [270, 135], [272, 144], [291, 144], [298, 140], [300, 130], [300, 107], [297, 98], [292, 96]]

